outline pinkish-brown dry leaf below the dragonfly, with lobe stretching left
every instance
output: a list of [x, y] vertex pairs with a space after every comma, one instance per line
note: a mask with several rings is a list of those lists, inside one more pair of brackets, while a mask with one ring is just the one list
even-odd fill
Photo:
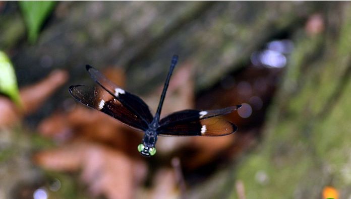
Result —
[[40, 166], [59, 171], [82, 169], [82, 180], [94, 195], [109, 199], [133, 198], [135, 187], [146, 176], [146, 165], [124, 153], [78, 140], [35, 156]]

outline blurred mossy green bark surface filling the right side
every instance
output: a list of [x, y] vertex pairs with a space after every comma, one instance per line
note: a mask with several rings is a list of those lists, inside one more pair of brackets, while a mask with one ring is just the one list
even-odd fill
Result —
[[[321, 198], [327, 185], [350, 197], [351, 5], [332, 4], [320, 14], [324, 33], [295, 34], [262, 143], [194, 198], [238, 198], [238, 181], [246, 198]], [[206, 188], [214, 184], [221, 188]]]

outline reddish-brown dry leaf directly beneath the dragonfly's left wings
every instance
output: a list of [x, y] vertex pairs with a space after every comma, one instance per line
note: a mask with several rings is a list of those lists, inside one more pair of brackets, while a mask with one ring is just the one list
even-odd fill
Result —
[[83, 139], [111, 146], [134, 157], [139, 156], [137, 146], [142, 139], [141, 132], [81, 105], [70, 112], [56, 112], [47, 117], [40, 122], [38, 131], [58, 143]]

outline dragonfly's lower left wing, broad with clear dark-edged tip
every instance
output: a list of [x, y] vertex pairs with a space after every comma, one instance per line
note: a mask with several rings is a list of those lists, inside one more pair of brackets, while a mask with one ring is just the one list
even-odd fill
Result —
[[147, 122], [140, 118], [139, 115], [130, 111], [101, 87], [75, 85], [70, 86], [69, 92], [78, 102], [106, 113], [127, 126], [137, 130], [146, 130], [148, 128]]

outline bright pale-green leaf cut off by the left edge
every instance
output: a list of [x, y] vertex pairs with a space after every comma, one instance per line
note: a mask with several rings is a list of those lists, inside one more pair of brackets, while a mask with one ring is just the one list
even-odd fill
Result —
[[17, 105], [20, 105], [15, 70], [3, 51], [0, 51], [0, 93], [9, 96]]

